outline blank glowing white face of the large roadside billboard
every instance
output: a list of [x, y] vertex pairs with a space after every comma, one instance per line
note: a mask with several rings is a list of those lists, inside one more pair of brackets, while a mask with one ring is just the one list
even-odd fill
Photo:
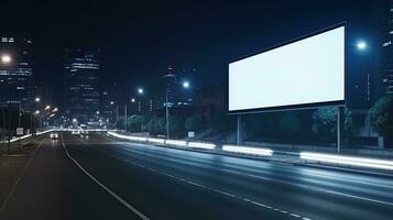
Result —
[[345, 101], [345, 26], [229, 64], [229, 112]]

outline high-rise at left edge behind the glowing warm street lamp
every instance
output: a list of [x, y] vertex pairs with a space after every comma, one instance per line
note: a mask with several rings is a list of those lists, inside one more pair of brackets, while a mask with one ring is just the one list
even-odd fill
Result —
[[0, 105], [24, 111], [33, 110], [32, 40], [0, 38]]

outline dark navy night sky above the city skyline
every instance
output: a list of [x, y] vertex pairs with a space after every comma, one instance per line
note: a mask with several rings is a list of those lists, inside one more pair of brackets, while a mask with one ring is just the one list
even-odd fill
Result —
[[[195, 87], [226, 80], [228, 62], [347, 21], [349, 41], [370, 34], [372, 1], [4, 1], [2, 35], [30, 35], [39, 79], [62, 96], [63, 50], [101, 50], [101, 77], [132, 92], [166, 73]], [[193, 69], [196, 69], [193, 72]], [[149, 88], [149, 87], [148, 87]]]

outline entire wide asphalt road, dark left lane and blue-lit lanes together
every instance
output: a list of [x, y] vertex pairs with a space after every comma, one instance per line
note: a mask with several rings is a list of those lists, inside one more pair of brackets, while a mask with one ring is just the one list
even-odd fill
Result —
[[127, 143], [46, 139], [0, 219], [393, 218], [393, 180]]

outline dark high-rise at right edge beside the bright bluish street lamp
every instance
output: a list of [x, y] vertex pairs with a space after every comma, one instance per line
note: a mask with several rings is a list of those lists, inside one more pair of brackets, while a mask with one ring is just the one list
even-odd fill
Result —
[[376, 0], [372, 8], [374, 40], [374, 76], [371, 98], [393, 94], [393, 0]]

